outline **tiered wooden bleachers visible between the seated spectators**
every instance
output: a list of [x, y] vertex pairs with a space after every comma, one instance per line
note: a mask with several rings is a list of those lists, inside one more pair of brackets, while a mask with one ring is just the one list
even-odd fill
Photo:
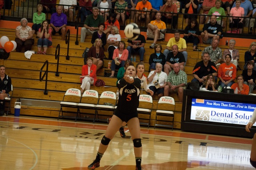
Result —
[[[18, 23], [17, 23], [18, 25]], [[0, 35], [6, 35], [10, 40], [15, 39], [15, 29], [0, 28]], [[35, 38], [35, 35], [34, 35]], [[48, 49], [47, 55], [33, 54], [31, 59], [26, 59], [24, 53], [11, 52], [10, 57], [3, 61], [1, 64], [6, 66], [6, 74], [12, 78], [12, 84], [14, 86], [14, 94], [11, 103], [11, 113], [14, 113], [14, 102], [15, 99], [26, 98], [35, 100], [51, 100], [51, 101], [61, 101], [66, 90], [68, 88], [78, 88], [80, 89], [80, 74], [81, 68], [84, 64], [84, 59], [82, 58], [82, 53], [86, 47], [91, 47], [90, 43], [91, 36], [86, 37], [85, 43], [80, 43], [75, 45], [76, 35], [70, 34], [70, 48], [69, 56], [70, 60], [66, 60], [67, 55], [67, 45], [65, 41], [60, 40], [60, 36], [52, 36], [53, 45]], [[126, 39], [122, 39], [127, 43]], [[80, 41], [80, 37], [78, 37]], [[149, 64], [148, 59], [150, 54], [154, 53], [154, 49], [150, 49], [152, 41], [147, 40], [145, 49], [146, 53], [144, 56], [145, 70], [148, 70]], [[158, 43], [162, 44], [163, 49], [166, 48], [166, 41], [160, 41]], [[60, 44], [60, 63], [58, 72], [60, 76], [55, 76], [57, 69], [57, 61], [54, 57], [55, 48]], [[127, 44], [128, 45], [128, 44]], [[199, 44], [198, 48], [203, 49], [208, 45]], [[107, 45], [105, 46], [105, 55], [108, 57]], [[226, 49], [227, 46], [220, 46], [222, 50]], [[248, 50], [248, 47], [236, 47], [240, 50], [240, 67], [244, 65], [244, 52]], [[35, 39], [35, 44], [32, 50], [37, 51], [37, 39]], [[198, 51], [192, 51], [192, 44], [188, 43], [188, 61], [185, 66], [185, 72], [188, 74], [188, 82], [192, 80], [192, 70], [194, 65], [201, 60], [201, 53]], [[137, 58], [138, 55], [137, 55]], [[49, 62], [49, 72], [48, 72], [48, 84], [47, 90], [48, 94], [44, 95], [45, 81], [39, 81], [40, 68], [44, 62], [48, 60]], [[106, 83], [105, 87], [91, 86], [91, 89], [97, 90], [99, 94], [104, 91], [116, 92], [116, 78], [104, 77], [104, 70], [110, 70], [107, 67], [108, 60], [104, 60], [104, 68], [97, 72], [97, 78], [104, 80]], [[136, 65], [138, 62], [133, 63]], [[238, 71], [241, 74], [242, 70]], [[145, 71], [148, 75], [148, 72]], [[146, 94], [143, 92], [143, 94]], [[176, 113], [174, 117], [174, 128], [180, 129], [181, 122], [181, 110], [182, 103], [178, 102], [178, 96], [176, 94], [170, 94], [171, 97], [176, 101]], [[150, 125], [154, 125], [155, 111], [157, 106], [158, 98], [153, 96], [153, 110]], [[38, 107], [38, 106], [22, 106], [21, 114], [23, 115], [35, 115], [35, 116], [46, 116], [46, 117], [58, 117], [59, 108], [56, 107]]]

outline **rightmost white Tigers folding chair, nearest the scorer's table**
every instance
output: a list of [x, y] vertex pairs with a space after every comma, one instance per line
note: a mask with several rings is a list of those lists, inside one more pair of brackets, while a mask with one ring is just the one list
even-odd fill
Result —
[[[158, 108], [161, 108], [158, 110]], [[175, 113], [175, 101], [174, 98], [169, 96], [163, 96], [159, 99], [157, 107], [156, 107], [156, 119], [155, 119], [155, 126], [163, 126], [163, 127], [172, 127], [173, 130], [173, 123], [174, 123], [174, 113]], [[162, 116], [162, 119], [158, 119], [158, 117]], [[164, 118], [166, 117], [166, 118]], [[167, 117], [172, 117], [172, 120], [168, 120]], [[166, 122], [172, 123], [172, 125], [166, 124], [157, 124], [158, 122]]]

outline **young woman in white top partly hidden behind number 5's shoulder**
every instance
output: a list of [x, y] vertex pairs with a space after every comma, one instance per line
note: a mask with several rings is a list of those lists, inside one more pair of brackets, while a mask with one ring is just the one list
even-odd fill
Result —
[[[136, 65], [136, 69], [137, 69], [137, 74], [136, 74], [136, 78], [139, 78], [140, 81], [141, 81], [141, 87], [144, 88], [144, 90], [146, 92], [148, 92], [151, 96], [154, 95], [154, 92], [152, 90], [150, 90], [148, 88], [148, 84], [147, 84], [147, 77], [146, 75], [144, 74], [144, 70], [145, 70], [145, 65], [144, 63], [138, 63]], [[141, 88], [142, 89], [142, 88]]]

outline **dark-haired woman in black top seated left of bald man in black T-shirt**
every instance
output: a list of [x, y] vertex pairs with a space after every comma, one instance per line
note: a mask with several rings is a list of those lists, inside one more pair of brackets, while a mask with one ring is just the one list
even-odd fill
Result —
[[155, 47], [155, 53], [151, 54], [149, 57], [149, 69], [150, 71], [156, 70], [156, 63], [161, 63], [162, 65], [165, 64], [165, 56], [162, 53], [162, 45], [156, 44]]

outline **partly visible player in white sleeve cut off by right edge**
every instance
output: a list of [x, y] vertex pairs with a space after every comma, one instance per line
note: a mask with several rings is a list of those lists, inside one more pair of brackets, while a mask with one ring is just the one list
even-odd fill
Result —
[[[252, 117], [251, 117], [249, 123], [245, 127], [245, 130], [247, 132], [250, 132], [250, 129], [251, 129], [252, 125], [255, 123], [255, 121], [256, 121], [256, 109], [254, 109], [254, 111], [252, 113]], [[254, 137], [252, 139], [252, 149], [251, 149], [251, 155], [250, 155], [250, 163], [252, 164], [252, 166], [254, 168], [256, 168], [256, 133], [254, 134]]]

